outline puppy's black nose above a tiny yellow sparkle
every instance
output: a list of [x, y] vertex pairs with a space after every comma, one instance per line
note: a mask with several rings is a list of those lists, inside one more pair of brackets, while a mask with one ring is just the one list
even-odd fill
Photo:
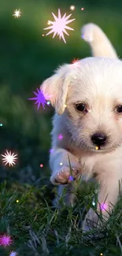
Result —
[[94, 133], [94, 135], [91, 136], [92, 142], [97, 146], [102, 146], [105, 144], [107, 137], [104, 133]]

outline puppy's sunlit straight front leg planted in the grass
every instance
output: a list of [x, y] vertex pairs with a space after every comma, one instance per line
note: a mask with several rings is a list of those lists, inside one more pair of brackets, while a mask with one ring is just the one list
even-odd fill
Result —
[[[106, 170], [101, 170], [98, 174], [98, 182], [100, 183], [100, 191], [98, 194], [97, 212], [102, 213], [102, 221], [107, 221], [112, 212], [119, 195], [119, 180], [121, 180], [121, 170], [117, 170], [113, 165], [106, 165]], [[108, 169], [107, 169], [108, 168]], [[83, 231], [86, 232], [91, 228], [102, 227], [102, 222], [98, 218], [98, 214], [90, 209], [83, 221]]]

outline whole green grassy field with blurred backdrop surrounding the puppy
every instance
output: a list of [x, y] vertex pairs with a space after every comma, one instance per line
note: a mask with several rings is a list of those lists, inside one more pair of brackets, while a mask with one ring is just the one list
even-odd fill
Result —
[[[0, 7], [0, 154], [17, 152], [17, 165], [4, 166], [0, 157], [0, 236], [12, 236], [10, 247], [0, 246], [0, 256], [16, 251], [18, 256], [33, 255], [122, 255], [122, 202], [118, 202], [109, 222], [102, 228], [102, 238], [91, 239], [82, 232], [82, 221], [92, 205], [94, 184], [82, 184], [76, 192], [74, 207], [54, 209], [56, 187], [50, 184], [51, 106], [45, 110], [34, 102], [33, 91], [54, 69], [74, 58], [91, 55], [80, 38], [83, 24], [98, 24], [122, 56], [122, 4], [76, 1], [71, 24], [74, 32], [65, 35], [66, 44], [57, 37], [42, 36], [51, 12], [71, 13], [71, 1], [3, 1]], [[12, 14], [21, 9], [20, 19]], [[40, 167], [43, 164], [43, 167]], [[87, 188], [86, 188], [87, 187]], [[97, 231], [94, 230], [93, 233]], [[14, 256], [14, 255], [12, 255]]]

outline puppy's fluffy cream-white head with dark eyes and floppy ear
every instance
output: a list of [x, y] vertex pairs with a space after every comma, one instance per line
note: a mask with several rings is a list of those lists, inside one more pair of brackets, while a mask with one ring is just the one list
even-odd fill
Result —
[[57, 114], [65, 112], [68, 130], [79, 147], [109, 151], [121, 145], [122, 61], [86, 58], [63, 65], [41, 89], [51, 95]]

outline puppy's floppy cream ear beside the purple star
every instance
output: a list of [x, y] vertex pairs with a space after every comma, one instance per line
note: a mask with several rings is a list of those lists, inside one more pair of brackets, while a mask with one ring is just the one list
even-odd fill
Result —
[[40, 89], [43, 91], [45, 98], [50, 99], [50, 103], [56, 109], [58, 115], [65, 111], [65, 102], [68, 94], [70, 83], [70, 66], [63, 65], [55, 72], [54, 76], [46, 79]]

